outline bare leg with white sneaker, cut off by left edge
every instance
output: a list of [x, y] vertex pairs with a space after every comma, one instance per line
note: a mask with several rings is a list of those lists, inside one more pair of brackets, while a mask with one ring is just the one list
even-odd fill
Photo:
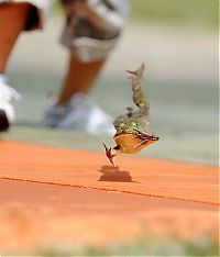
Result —
[[0, 4], [0, 132], [7, 131], [14, 120], [11, 98], [19, 98], [6, 81], [6, 69], [19, 34], [23, 31], [30, 10], [29, 3]]

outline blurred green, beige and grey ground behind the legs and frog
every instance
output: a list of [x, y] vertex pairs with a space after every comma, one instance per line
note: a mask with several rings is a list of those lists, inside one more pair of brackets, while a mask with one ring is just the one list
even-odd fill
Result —
[[[151, 131], [161, 141], [145, 157], [218, 164], [219, 11], [216, 0], [131, 0], [131, 14], [91, 98], [113, 118], [132, 104], [125, 69], [146, 65]], [[23, 33], [8, 69], [23, 96], [7, 138], [102, 152], [111, 136], [41, 126], [48, 92], [57, 92], [68, 53], [58, 43], [64, 16], [55, 1], [44, 31]]]

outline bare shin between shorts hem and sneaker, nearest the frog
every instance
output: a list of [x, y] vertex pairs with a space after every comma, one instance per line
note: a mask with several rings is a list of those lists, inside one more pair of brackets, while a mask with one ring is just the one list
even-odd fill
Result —
[[105, 60], [81, 63], [74, 55], [70, 55], [67, 75], [57, 105], [68, 101], [75, 93], [88, 93], [103, 64]]

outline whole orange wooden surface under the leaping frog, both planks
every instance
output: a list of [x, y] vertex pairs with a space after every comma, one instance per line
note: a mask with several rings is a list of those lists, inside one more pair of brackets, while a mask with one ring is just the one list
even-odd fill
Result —
[[120, 156], [113, 169], [92, 152], [4, 141], [0, 149], [0, 249], [143, 231], [218, 239], [217, 167]]

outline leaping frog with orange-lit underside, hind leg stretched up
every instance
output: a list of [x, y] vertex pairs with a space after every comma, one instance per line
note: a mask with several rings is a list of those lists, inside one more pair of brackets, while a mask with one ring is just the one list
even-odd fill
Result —
[[133, 102], [138, 110], [132, 107], [127, 108], [127, 113], [118, 115], [113, 122], [116, 134], [113, 139], [114, 147], [107, 147], [106, 156], [116, 167], [113, 158], [118, 154], [135, 154], [146, 148], [148, 145], [157, 142], [160, 137], [148, 131], [150, 125], [150, 103], [142, 86], [144, 63], [135, 70], [125, 70], [129, 74], [129, 80], [133, 92]]

